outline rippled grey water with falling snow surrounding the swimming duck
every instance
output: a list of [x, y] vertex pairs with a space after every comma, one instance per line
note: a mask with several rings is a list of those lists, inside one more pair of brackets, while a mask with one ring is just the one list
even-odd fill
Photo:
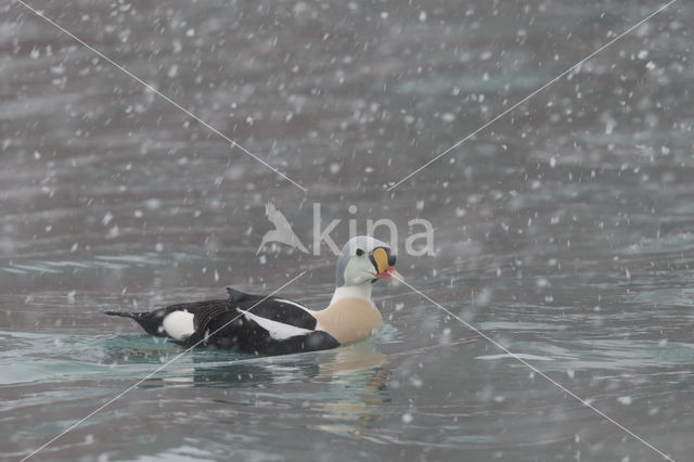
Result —
[[[274, 202], [398, 223], [409, 283], [677, 460], [694, 426], [694, 44], [679, 1], [35, 1], [304, 193], [18, 3], [0, 5], [0, 459], [174, 357], [108, 309], [283, 291], [334, 257], [256, 255]], [[358, 211], [350, 214], [349, 205]], [[434, 256], [408, 256], [414, 218]], [[384, 230], [382, 230], [384, 231]], [[387, 233], [385, 233], [387, 238]], [[332, 351], [197, 350], [36, 460], [659, 460], [434, 305]]]

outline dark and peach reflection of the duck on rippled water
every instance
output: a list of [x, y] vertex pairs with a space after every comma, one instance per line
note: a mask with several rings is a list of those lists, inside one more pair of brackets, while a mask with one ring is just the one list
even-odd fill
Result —
[[[306, 401], [309, 427], [350, 438], [374, 438], [373, 422], [382, 415], [384, 403], [390, 401], [387, 388], [390, 371], [384, 369], [387, 357], [376, 350], [376, 344], [368, 339], [327, 351], [271, 358], [242, 355], [231, 362], [227, 362], [229, 358], [221, 351], [203, 350], [191, 357], [192, 364], [169, 368], [158, 386], [268, 390], [280, 386], [282, 399], [293, 400], [292, 388], [282, 385], [299, 384], [298, 393], [303, 396], [306, 388], [303, 384], [310, 382], [306, 386], [313, 390], [314, 398]], [[143, 351], [131, 352], [139, 356]], [[150, 352], [156, 357], [169, 350]], [[147, 385], [157, 386], [156, 382], [150, 380]], [[313, 423], [311, 414], [317, 419]]]

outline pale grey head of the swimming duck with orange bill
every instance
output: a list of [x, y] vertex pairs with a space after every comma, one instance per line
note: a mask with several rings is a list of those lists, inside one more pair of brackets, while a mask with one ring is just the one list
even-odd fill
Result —
[[374, 283], [380, 279], [400, 279], [395, 270], [395, 251], [385, 242], [368, 235], [352, 238], [337, 258], [336, 286]]

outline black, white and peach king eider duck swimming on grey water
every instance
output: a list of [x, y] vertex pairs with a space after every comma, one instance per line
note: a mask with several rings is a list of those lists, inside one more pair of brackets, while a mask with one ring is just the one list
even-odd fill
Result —
[[333, 298], [319, 311], [286, 298], [227, 287], [227, 299], [106, 315], [132, 318], [147, 334], [183, 347], [215, 346], [255, 355], [330, 349], [365, 338], [383, 325], [371, 288], [380, 279], [400, 278], [395, 259], [390, 246], [378, 240], [349, 240], [337, 258]]

